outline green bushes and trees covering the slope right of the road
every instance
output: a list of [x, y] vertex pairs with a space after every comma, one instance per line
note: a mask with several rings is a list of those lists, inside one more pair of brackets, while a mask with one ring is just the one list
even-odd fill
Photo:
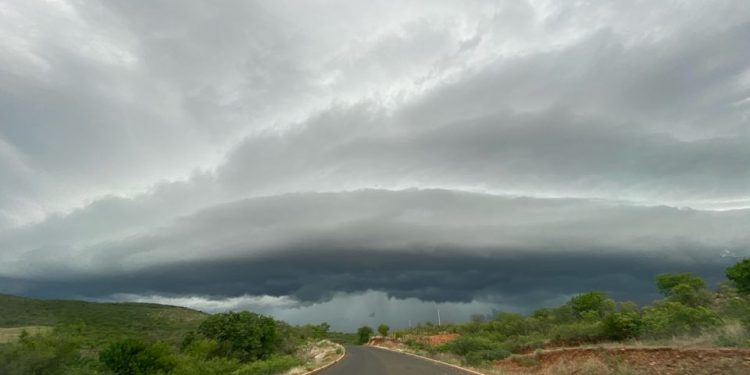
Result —
[[[656, 287], [663, 298], [646, 306], [591, 291], [527, 316], [501, 312], [464, 324], [428, 323], [395, 336], [415, 349], [453, 353], [472, 365], [538, 348], [606, 341], [670, 344], [683, 337], [702, 340], [702, 345], [750, 347], [750, 259], [728, 268], [726, 276], [712, 292], [691, 273], [659, 275]], [[459, 336], [437, 347], [422, 339], [446, 332]]]

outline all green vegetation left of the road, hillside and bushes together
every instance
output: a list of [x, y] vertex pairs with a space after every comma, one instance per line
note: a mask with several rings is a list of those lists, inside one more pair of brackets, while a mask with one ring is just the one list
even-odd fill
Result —
[[0, 296], [0, 327], [3, 375], [273, 375], [305, 365], [313, 342], [355, 337], [251, 312], [14, 296]]

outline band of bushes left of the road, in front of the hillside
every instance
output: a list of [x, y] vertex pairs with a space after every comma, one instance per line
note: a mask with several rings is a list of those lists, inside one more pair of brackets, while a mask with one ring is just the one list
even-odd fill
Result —
[[0, 374], [272, 375], [303, 365], [300, 348], [328, 331], [326, 323], [290, 326], [252, 312], [211, 315], [180, 345], [141, 337], [101, 343], [81, 326], [58, 326], [0, 345]]

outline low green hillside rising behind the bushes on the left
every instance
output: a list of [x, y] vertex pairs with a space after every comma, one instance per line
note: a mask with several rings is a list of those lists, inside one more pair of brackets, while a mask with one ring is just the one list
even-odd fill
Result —
[[148, 337], [176, 344], [207, 316], [200, 311], [167, 305], [40, 300], [0, 295], [0, 328], [58, 327], [81, 331], [94, 342]]

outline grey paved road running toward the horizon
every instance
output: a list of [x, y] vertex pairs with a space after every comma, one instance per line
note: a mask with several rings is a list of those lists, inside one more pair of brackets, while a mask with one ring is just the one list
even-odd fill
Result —
[[341, 362], [321, 375], [467, 375], [453, 367], [366, 346], [348, 346]]

